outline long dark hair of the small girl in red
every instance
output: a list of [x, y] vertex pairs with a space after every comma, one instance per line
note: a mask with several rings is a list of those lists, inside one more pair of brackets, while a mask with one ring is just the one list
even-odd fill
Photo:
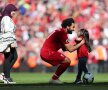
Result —
[[80, 32], [81, 32], [81, 36], [84, 37], [85, 44], [86, 44], [88, 51], [91, 52], [92, 49], [90, 46], [89, 32], [86, 29], [81, 29]]

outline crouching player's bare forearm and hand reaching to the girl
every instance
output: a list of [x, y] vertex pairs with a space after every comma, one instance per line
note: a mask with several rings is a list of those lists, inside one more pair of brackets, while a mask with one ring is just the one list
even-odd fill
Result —
[[85, 43], [84, 40], [82, 40], [80, 43], [76, 44], [76, 45], [71, 45], [71, 44], [65, 44], [66, 49], [69, 52], [73, 52], [75, 50], [77, 50], [81, 45], [83, 45]]

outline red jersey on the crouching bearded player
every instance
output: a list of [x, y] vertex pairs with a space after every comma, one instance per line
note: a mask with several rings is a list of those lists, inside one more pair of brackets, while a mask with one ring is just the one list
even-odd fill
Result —
[[45, 40], [41, 52], [47, 50], [58, 51], [60, 48], [64, 46], [64, 44], [67, 43], [69, 42], [68, 42], [68, 36], [67, 33], [65, 32], [65, 29], [61, 28], [59, 30], [55, 30]]

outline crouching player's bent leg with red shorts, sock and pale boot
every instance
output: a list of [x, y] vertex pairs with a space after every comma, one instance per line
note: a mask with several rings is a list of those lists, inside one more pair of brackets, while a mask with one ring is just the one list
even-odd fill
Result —
[[53, 66], [59, 65], [50, 82], [62, 83], [59, 77], [69, 67], [71, 63], [70, 59], [60, 52], [51, 52], [50, 56], [42, 57], [42, 59]]

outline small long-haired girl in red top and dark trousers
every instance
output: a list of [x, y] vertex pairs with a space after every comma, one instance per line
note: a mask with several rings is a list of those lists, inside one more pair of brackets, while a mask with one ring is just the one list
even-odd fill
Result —
[[91, 52], [91, 47], [89, 44], [89, 33], [86, 29], [80, 29], [77, 32], [78, 38], [75, 40], [76, 44], [78, 44], [82, 39], [85, 40], [85, 44], [80, 46], [77, 49], [77, 55], [78, 55], [78, 74], [75, 80], [75, 84], [82, 83], [81, 81], [81, 75], [82, 72], [88, 73], [86, 63], [88, 59], [88, 53]]

